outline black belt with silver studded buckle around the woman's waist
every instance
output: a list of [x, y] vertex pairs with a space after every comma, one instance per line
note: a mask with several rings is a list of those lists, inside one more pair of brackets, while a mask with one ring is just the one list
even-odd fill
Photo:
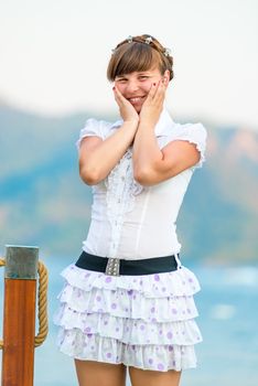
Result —
[[[178, 255], [179, 256], [179, 255]], [[174, 255], [163, 257], [152, 257], [140, 260], [125, 260], [112, 257], [100, 257], [83, 251], [78, 260], [75, 262], [76, 267], [105, 272], [106, 275], [153, 275], [161, 272], [170, 272], [176, 270], [181, 266], [178, 265]]]

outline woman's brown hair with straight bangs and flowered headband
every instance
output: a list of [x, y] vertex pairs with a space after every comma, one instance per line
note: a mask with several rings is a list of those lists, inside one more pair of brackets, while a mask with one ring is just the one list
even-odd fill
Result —
[[173, 79], [173, 57], [169, 49], [163, 47], [151, 35], [129, 36], [112, 51], [107, 78], [114, 82], [116, 76], [143, 72], [157, 66], [162, 75], [169, 69], [170, 81]]

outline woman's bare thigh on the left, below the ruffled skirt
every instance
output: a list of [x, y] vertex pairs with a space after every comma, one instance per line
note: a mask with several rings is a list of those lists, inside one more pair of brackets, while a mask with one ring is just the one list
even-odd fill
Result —
[[79, 386], [126, 386], [126, 366], [75, 360]]

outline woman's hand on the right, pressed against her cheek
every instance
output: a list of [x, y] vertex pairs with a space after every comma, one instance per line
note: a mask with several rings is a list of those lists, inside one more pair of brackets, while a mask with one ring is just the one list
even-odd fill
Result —
[[163, 103], [165, 98], [166, 85], [163, 81], [158, 84], [152, 84], [147, 99], [144, 100], [141, 112], [140, 121], [154, 127], [160, 118], [163, 109]]

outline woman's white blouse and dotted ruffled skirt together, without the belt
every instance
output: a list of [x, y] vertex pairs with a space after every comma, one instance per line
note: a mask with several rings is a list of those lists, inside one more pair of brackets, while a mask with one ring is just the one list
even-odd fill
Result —
[[[89, 119], [87, 136], [104, 140], [119, 130]], [[191, 176], [204, 161], [206, 130], [201, 124], [173, 122], [164, 109], [155, 127], [160, 148], [173, 140], [196, 144], [197, 164], [154, 186], [133, 180], [131, 149], [105, 181], [93, 186], [92, 222], [83, 249], [101, 257], [144, 259], [176, 255], [176, 217]], [[79, 360], [123, 363], [165, 372], [196, 366], [194, 344], [202, 341], [193, 294], [200, 285], [192, 271], [142, 276], [107, 276], [72, 264], [55, 315], [62, 352]]]

